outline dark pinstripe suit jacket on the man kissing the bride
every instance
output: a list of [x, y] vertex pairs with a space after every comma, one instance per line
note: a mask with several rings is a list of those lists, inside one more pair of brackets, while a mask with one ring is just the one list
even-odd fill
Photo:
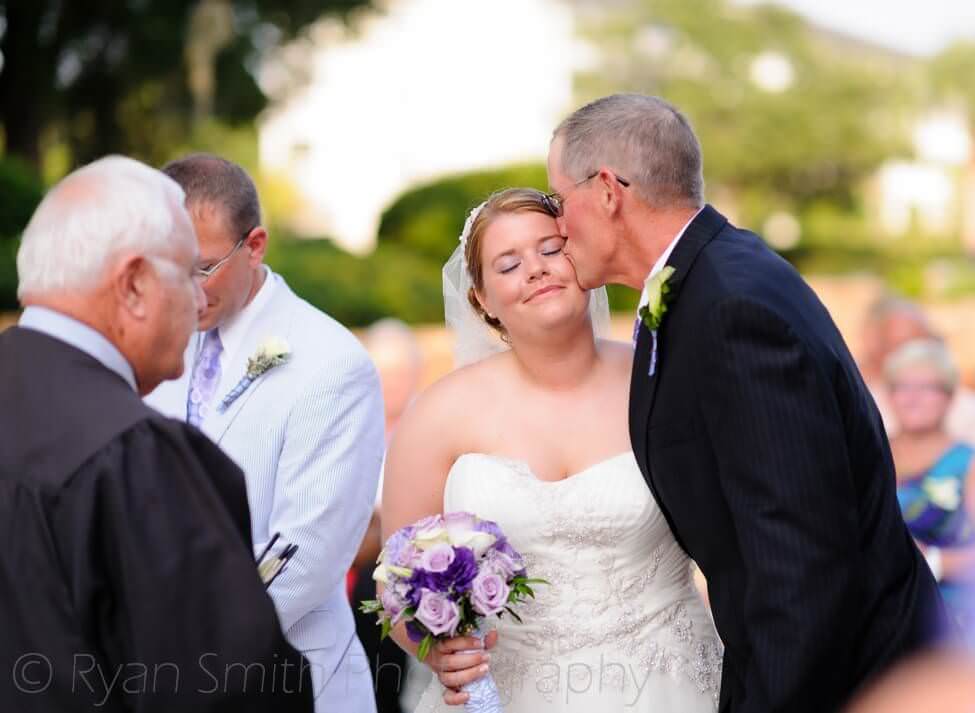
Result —
[[925, 646], [944, 613], [895, 495], [880, 416], [825, 307], [706, 206], [641, 328], [633, 449], [708, 580], [722, 711], [822, 713]]

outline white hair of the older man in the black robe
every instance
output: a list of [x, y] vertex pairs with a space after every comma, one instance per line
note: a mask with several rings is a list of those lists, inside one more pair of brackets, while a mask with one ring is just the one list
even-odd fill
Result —
[[124, 156], [68, 174], [44, 196], [21, 237], [17, 297], [93, 288], [124, 252], [162, 257], [173, 253], [174, 240], [195, 251], [183, 198], [174, 181]]

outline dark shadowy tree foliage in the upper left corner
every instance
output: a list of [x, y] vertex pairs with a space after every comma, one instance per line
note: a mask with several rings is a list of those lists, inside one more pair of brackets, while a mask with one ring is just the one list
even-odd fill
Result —
[[235, 124], [265, 106], [251, 71], [263, 53], [324, 13], [345, 15], [367, 3], [0, 0], [6, 152], [39, 167], [46, 145], [65, 143], [73, 164], [112, 152], [158, 163], [199, 116], [187, 51], [200, 34], [190, 28], [201, 4], [225, 10], [223, 25], [229, 24], [211, 40], [213, 91], [206, 108]]

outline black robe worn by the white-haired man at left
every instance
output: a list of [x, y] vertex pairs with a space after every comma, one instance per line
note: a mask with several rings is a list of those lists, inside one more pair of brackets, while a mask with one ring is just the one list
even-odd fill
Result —
[[215, 445], [20, 327], [0, 404], [0, 711], [312, 711]]

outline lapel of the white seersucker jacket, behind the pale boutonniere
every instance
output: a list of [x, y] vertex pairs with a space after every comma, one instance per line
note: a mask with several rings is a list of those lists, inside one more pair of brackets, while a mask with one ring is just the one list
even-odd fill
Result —
[[[261, 388], [261, 385], [267, 379], [269, 374], [265, 373], [257, 377], [257, 379], [242, 393], [237, 399], [230, 404], [226, 411], [220, 413], [218, 406], [221, 401], [229, 394], [235, 386], [240, 382], [240, 380], [247, 373], [247, 361], [253, 356], [254, 352], [257, 350], [258, 345], [263, 342], [268, 337], [282, 337], [287, 339], [291, 332], [291, 321], [286, 320], [286, 323], [282, 324], [282, 316], [287, 313], [288, 301], [292, 297], [293, 293], [288, 289], [287, 284], [284, 280], [280, 279], [276, 275], [270, 275], [269, 279], [276, 279], [277, 284], [275, 287], [275, 294], [271, 297], [271, 300], [267, 303], [264, 309], [259, 315], [254, 319], [254, 322], [248, 328], [244, 339], [241, 341], [240, 349], [234, 354], [233, 359], [231, 359], [227, 364], [227, 371], [220, 379], [220, 387], [217, 390], [217, 394], [213, 400], [213, 411], [208, 418], [203, 421], [201, 430], [210, 437], [214, 443], [220, 443], [224, 435], [227, 433], [227, 429], [237, 418], [237, 415], [244, 408], [247, 401], [254, 395], [254, 393]], [[287, 364], [275, 367], [277, 369], [286, 369]]]

